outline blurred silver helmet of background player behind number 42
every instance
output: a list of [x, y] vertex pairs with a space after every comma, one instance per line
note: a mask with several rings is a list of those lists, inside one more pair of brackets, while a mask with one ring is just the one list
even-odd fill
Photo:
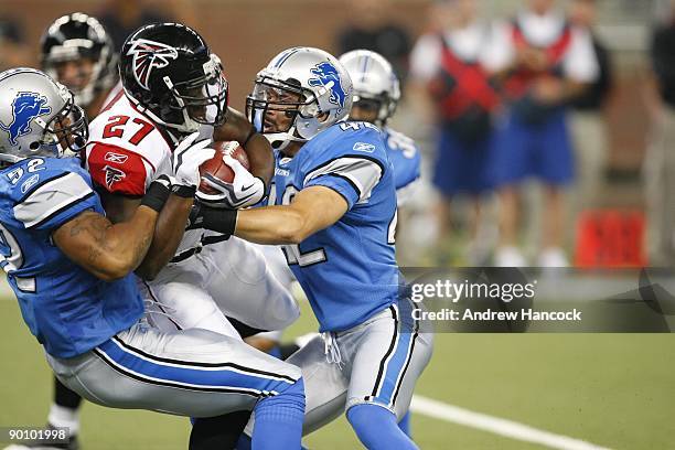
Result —
[[369, 50], [347, 52], [340, 62], [354, 84], [354, 106], [377, 111], [377, 125], [386, 125], [400, 99], [400, 85], [392, 64]]

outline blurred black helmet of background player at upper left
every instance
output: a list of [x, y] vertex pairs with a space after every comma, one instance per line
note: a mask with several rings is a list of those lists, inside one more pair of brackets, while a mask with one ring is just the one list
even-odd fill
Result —
[[[100, 22], [90, 15], [75, 12], [58, 18], [42, 36], [40, 62], [52, 78], [67, 85], [75, 95], [75, 103], [83, 108], [117, 78], [117, 56], [113, 41]], [[60, 65], [88, 58], [92, 73], [81, 86], [60, 79]]]

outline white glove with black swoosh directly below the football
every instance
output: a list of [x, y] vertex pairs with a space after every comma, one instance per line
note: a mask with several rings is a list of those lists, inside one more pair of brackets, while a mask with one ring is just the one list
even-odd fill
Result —
[[205, 195], [197, 191], [197, 199], [218, 206], [238, 210], [258, 203], [265, 196], [265, 183], [254, 176], [244, 165], [229, 154], [223, 156], [223, 162], [235, 173], [232, 183], [222, 180], [203, 179], [204, 183], [216, 190], [215, 195]]

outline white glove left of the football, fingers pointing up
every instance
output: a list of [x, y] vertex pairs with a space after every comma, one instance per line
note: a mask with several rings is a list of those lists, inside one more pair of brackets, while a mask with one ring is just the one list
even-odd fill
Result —
[[200, 185], [200, 165], [215, 156], [215, 150], [207, 148], [211, 139], [195, 142], [200, 133], [188, 136], [173, 151], [173, 184], [189, 188]]

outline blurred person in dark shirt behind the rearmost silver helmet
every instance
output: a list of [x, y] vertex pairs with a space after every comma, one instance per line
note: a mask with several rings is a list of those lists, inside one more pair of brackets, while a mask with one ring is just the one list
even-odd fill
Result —
[[338, 54], [352, 50], [372, 50], [383, 55], [393, 66], [398, 79], [406, 79], [410, 36], [387, 12], [393, 8], [387, 0], [351, 0], [352, 23], [338, 35]]

